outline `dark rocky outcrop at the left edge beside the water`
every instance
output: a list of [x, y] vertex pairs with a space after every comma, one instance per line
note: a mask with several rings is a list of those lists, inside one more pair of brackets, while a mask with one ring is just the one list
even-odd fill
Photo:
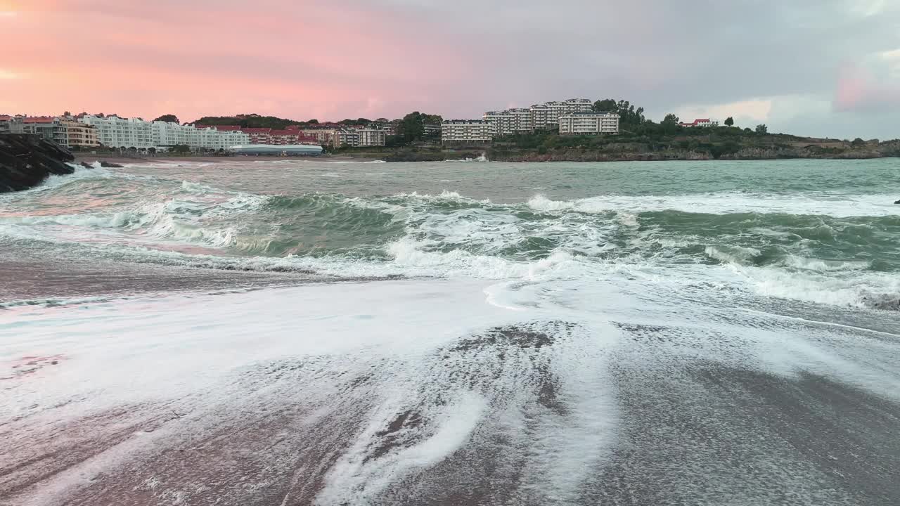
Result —
[[56, 142], [23, 133], [0, 134], [0, 193], [27, 190], [51, 174], [72, 174], [75, 157]]

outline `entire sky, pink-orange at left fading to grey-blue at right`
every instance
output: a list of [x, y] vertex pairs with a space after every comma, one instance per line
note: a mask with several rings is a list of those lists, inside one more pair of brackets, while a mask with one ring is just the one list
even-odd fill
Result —
[[456, 119], [615, 98], [654, 121], [900, 138], [896, 0], [0, 0], [0, 33], [0, 113]]

